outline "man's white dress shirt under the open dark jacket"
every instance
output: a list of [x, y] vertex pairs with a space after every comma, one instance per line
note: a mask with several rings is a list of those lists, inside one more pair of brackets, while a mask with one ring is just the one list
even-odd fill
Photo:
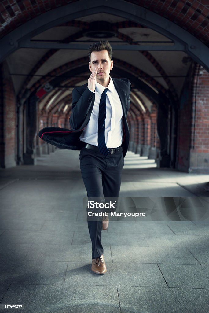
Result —
[[[93, 146], [98, 146], [98, 115], [99, 115], [99, 101], [105, 87], [96, 81], [94, 107], [90, 116], [89, 123], [84, 128], [80, 136], [80, 140], [89, 143]], [[107, 86], [106, 97], [106, 119], [105, 119], [105, 142], [107, 148], [116, 148], [121, 146], [123, 130], [122, 118], [123, 110], [119, 95], [115, 89], [112, 78], [110, 77], [110, 84]], [[92, 91], [92, 90], [91, 90]]]

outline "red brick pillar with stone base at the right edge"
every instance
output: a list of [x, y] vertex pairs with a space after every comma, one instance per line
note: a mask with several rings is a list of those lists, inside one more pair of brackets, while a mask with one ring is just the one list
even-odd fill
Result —
[[209, 73], [194, 63], [181, 93], [176, 168], [209, 172]]

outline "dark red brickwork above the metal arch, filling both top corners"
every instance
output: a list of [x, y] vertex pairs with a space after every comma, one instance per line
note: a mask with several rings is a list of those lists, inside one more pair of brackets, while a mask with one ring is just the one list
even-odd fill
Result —
[[[77, 1], [79, 0], [3, 0], [0, 2], [0, 38], [42, 13]], [[209, 6], [207, 0], [126, 1], [138, 4], [173, 21], [188, 30], [204, 44], [209, 44]]]

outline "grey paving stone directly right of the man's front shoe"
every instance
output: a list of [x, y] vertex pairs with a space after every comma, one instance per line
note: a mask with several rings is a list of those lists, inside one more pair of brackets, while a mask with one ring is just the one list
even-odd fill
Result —
[[199, 264], [184, 248], [111, 246], [111, 252], [113, 263]]

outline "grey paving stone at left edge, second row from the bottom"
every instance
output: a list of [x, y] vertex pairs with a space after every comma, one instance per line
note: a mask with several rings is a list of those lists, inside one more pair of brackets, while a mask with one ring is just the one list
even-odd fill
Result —
[[64, 284], [67, 262], [23, 261], [8, 267], [1, 266], [4, 284]]

